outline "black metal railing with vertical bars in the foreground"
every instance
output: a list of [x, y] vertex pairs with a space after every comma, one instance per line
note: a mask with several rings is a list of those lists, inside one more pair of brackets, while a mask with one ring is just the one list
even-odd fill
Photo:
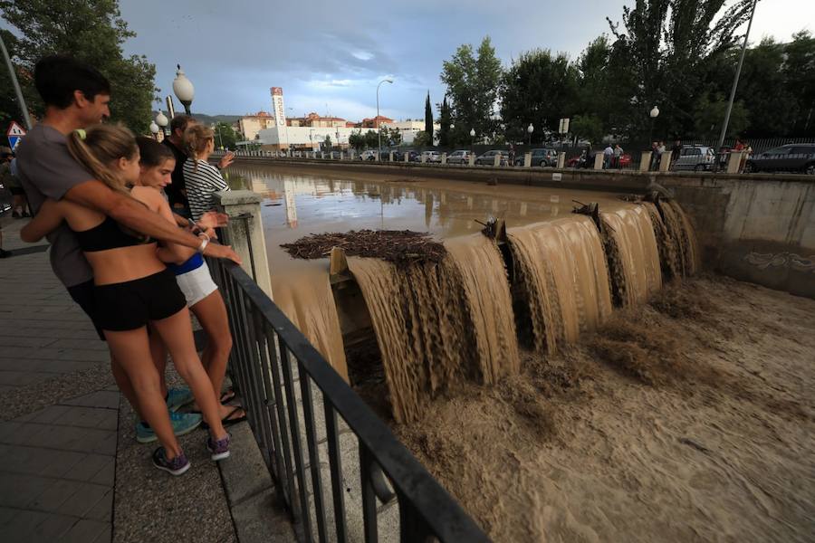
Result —
[[[395, 521], [398, 512], [402, 542], [489, 540], [244, 270], [210, 266], [229, 313], [233, 379], [298, 539], [371, 542], [380, 531], [395, 538], [394, 522], [383, 518]], [[343, 462], [353, 456], [359, 461]], [[349, 476], [356, 468], [359, 479]], [[357, 484], [360, 496], [350, 491]], [[383, 524], [392, 530], [380, 530]]]

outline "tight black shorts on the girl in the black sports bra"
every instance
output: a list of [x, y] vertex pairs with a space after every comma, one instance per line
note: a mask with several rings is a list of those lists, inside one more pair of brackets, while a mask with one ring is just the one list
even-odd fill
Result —
[[169, 270], [133, 281], [96, 285], [93, 300], [96, 322], [112, 332], [139, 329], [150, 320], [167, 319], [187, 307], [176, 276]]

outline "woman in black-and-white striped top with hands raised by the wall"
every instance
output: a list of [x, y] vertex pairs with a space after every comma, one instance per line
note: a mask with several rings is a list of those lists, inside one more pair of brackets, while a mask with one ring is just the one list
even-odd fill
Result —
[[[215, 208], [212, 193], [229, 190], [229, 185], [220, 170], [209, 164], [207, 159], [215, 150], [215, 132], [203, 125], [191, 125], [184, 131], [184, 148], [189, 158], [184, 163], [184, 185], [187, 188], [187, 200], [193, 220], [197, 221], [202, 214]], [[224, 167], [232, 163], [235, 155], [227, 153], [221, 164]]]

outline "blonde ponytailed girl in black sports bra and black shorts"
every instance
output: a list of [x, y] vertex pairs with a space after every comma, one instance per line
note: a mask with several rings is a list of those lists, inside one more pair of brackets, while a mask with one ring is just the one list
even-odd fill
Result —
[[[126, 186], [139, 179], [139, 148], [128, 129], [98, 125], [87, 132], [77, 130], [68, 137], [68, 148], [113, 190], [129, 194]], [[144, 204], [157, 213], [168, 205], [158, 193], [154, 200]], [[174, 274], [159, 259], [159, 254], [169, 249], [122, 230], [104, 214], [64, 199], [46, 201], [21, 237], [25, 242], [37, 241], [63, 220], [76, 233], [93, 268], [94, 302], [110, 351], [125, 368], [138, 396], [139, 410], [162, 444], [153, 453], [156, 467], [180, 475], [187, 471], [189, 462], [178, 445], [161, 396], [158, 371], [150, 357], [148, 323], [158, 331], [209, 424], [211, 435], [206, 444], [212, 459], [226, 458], [229, 434], [221, 424], [215, 391], [197, 355], [187, 300]], [[202, 239], [202, 250], [206, 242], [208, 239]]]

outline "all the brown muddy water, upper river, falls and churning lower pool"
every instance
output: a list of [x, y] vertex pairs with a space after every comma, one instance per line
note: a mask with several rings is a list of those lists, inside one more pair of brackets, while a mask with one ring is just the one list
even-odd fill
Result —
[[[495, 541], [815, 533], [815, 301], [687, 279], [700, 263], [678, 205], [243, 164], [230, 176], [265, 197], [275, 301]], [[479, 233], [490, 216], [504, 243]], [[354, 281], [332, 286], [327, 259], [279, 246], [363, 228], [432, 233], [446, 258], [350, 258]]]

